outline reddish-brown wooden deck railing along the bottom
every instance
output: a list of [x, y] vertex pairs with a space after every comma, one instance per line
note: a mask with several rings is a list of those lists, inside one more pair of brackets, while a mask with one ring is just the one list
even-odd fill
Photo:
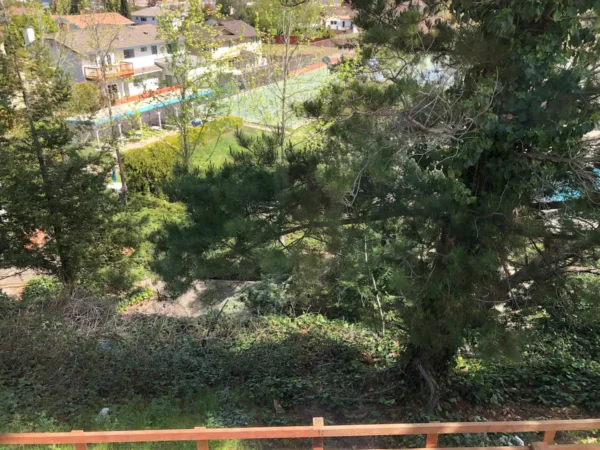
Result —
[[[548, 447], [554, 443], [557, 431], [597, 429], [600, 429], [600, 419], [326, 426], [322, 417], [315, 417], [312, 426], [296, 427], [6, 433], [0, 434], [0, 444], [73, 444], [75, 450], [85, 450], [87, 444], [107, 442], [196, 441], [198, 450], [208, 450], [208, 442], [217, 440], [312, 438], [312, 448], [322, 450], [324, 438], [423, 434], [427, 436], [425, 448], [437, 448], [440, 434], [542, 432], [543, 440], [532, 443], [531, 448], [548, 450]], [[482, 450], [484, 447], [465, 448]], [[555, 448], [557, 450], [600, 450], [600, 444], [567, 444]], [[485, 447], [485, 449], [527, 450], [528, 447]]]

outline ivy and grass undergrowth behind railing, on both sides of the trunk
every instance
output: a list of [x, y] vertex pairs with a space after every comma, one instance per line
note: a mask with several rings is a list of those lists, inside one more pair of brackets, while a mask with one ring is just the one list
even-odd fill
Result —
[[[4, 302], [2, 313], [0, 431], [272, 426], [307, 424], [317, 415], [330, 423], [485, 420], [465, 404], [501, 408], [507, 402], [575, 406], [583, 415], [600, 409], [600, 338], [593, 327], [578, 333], [533, 327], [520, 360], [463, 355], [442, 383], [440, 405], [426, 416], [419, 413], [424, 393], [396, 365], [404, 349], [397, 330], [381, 337], [310, 314], [223, 314], [216, 322], [211, 315], [132, 316], [98, 299], [67, 299], [40, 310]], [[98, 414], [102, 408], [109, 408], [106, 416]], [[442, 440], [449, 446], [514, 445], [511, 439]], [[424, 441], [410, 436], [378, 444], [422, 447]], [[113, 447], [194, 448], [94, 448]]]

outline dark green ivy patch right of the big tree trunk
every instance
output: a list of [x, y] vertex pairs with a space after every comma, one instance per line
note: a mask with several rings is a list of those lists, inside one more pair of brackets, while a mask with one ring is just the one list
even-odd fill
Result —
[[512, 401], [544, 406], [585, 405], [600, 410], [598, 325], [535, 330], [517, 360], [461, 358], [452, 386], [472, 402]]

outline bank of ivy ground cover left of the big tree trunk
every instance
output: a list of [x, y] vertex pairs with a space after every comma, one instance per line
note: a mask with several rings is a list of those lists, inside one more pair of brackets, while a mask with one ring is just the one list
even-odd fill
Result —
[[398, 350], [391, 336], [316, 315], [242, 322], [222, 316], [201, 346], [210, 318], [116, 314], [98, 324], [86, 317], [115, 314], [113, 301], [88, 299], [64, 308], [64, 319], [23, 317], [15, 310], [0, 323], [0, 392], [14, 393], [0, 397], [0, 423], [17, 412], [51, 410], [75, 424], [83, 412], [104, 406], [161, 397], [195, 403], [207, 390], [220, 398], [222, 425], [239, 420], [235, 414], [223, 419], [233, 410], [247, 411], [252, 423], [263, 420], [252, 405], [271, 411], [273, 400], [284, 408], [345, 404]]

